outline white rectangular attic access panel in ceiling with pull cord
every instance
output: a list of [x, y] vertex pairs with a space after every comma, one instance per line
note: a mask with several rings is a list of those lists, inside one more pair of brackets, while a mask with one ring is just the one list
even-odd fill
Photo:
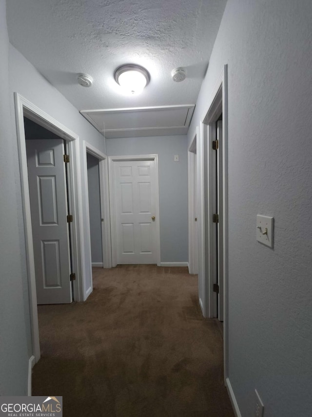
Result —
[[[111, 110], [81, 110], [80, 113], [105, 137], [186, 134], [195, 105]], [[105, 132], [105, 133], [104, 133]]]

